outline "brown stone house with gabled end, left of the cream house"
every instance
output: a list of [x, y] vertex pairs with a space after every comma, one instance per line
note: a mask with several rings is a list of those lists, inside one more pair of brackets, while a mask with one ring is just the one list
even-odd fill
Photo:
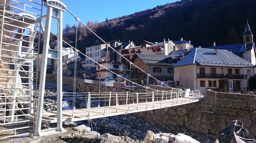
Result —
[[181, 57], [170, 55], [135, 54], [131, 62], [130, 79], [141, 85], [161, 85], [158, 81], [172, 86], [173, 59], [179, 61]]

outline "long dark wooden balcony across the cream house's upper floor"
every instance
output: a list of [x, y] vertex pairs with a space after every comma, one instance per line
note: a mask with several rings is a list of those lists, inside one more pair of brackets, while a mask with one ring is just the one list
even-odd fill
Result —
[[247, 80], [247, 75], [244, 74], [212, 74], [212, 73], [197, 73], [197, 79], [236, 79], [236, 80]]

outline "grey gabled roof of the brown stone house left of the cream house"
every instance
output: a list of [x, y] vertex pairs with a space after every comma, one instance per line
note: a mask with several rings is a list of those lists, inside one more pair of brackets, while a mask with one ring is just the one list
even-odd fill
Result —
[[155, 54], [138, 54], [136, 53], [131, 58], [131, 62], [136, 58], [140, 58], [145, 64], [169, 64], [169, 59], [172, 59], [170, 55], [155, 55]]

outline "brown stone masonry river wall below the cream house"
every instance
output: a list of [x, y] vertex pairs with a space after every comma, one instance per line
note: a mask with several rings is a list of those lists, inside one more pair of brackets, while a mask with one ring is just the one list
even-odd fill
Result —
[[160, 127], [172, 130], [185, 127], [189, 131], [212, 137], [229, 126], [233, 120], [240, 120], [249, 131], [249, 137], [256, 138], [255, 95], [207, 91], [203, 101], [134, 114]]

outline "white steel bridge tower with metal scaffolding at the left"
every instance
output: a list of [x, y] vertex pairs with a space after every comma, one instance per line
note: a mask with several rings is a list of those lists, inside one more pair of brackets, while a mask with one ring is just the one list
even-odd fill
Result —
[[[48, 58], [57, 59], [62, 67], [62, 38], [58, 38], [57, 50], [50, 49], [50, 23], [51, 18], [58, 20], [58, 35], [62, 37], [62, 11], [65, 5], [57, 0], [0, 3], [0, 139], [33, 133], [40, 136]], [[59, 73], [60, 81], [61, 76]], [[62, 93], [62, 88], [57, 90]], [[62, 131], [58, 121], [57, 130]]]

